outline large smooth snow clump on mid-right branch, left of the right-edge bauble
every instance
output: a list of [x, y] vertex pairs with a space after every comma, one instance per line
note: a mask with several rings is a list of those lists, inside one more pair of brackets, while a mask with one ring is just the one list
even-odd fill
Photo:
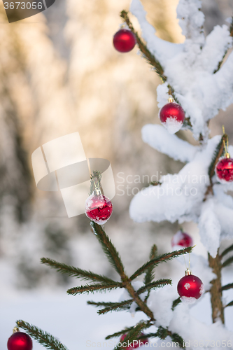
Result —
[[129, 207], [131, 218], [137, 222], [197, 222], [209, 186], [209, 164], [219, 140], [220, 137], [210, 139], [178, 174], [162, 176], [161, 186], [150, 186], [138, 193]]

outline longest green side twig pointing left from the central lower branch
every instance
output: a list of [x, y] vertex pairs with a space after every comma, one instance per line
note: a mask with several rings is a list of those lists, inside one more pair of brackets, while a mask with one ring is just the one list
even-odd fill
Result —
[[62, 262], [57, 262], [49, 258], [42, 258], [41, 262], [42, 264], [52, 267], [52, 269], [57, 269], [57, 271], [61, 272], [62, 274], [68, 274], [68, 276], [78, 277], [85, 281], [115, 283], [113, 279], [108, 279], [108, 277], [102, 276], [101, 274], [94, 274], [91, 271], [78, 269], [77, 267], [69, 266], [69, 265], [63, 264]]

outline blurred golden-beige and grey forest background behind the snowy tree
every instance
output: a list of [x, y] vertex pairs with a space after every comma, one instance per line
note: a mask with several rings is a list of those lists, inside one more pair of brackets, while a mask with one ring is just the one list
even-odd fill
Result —
[[[108, 265], [102, 261], [98, 244], [90, 246], [85, 215], [67, 218], [59, 194], [43, 193], [34, 183], [31, 153], [74, 131], [80, 133], [87, 157], [106, 158], [113, 167], [117, 193], [108, 234], [118, 245], [129, 273], [148, 255], [144, 241], [146, 246], [156, 241], [161, 253], [170, 249], [178, 225], [139, 225], [128, 214], [133, 188], [148, 186], [143, 175], [151, 179], [153, 174], [173, 174], [182, 167], [141, 140], [143, 125], [159, 123], [156, 87], [160, 79], [136, 55], [136, 48], [127, 55], [113, 49], [113, 34], [120, 25], [118, 14], [129, 8], [129, 3], [56, 0], [44, 13], [10, 25], [0, 4], [0, 271], [10, 286], [66, 283], [64, 277], [45, 272], [39, 264], [48, 252], [51, 258], [59, 256], [66, 263], [112, 273], [104, 271]], [[181, 43], [177, 3], [143, 0], [157, 36]], [[230, 0], [203, 0], [206, 34], [222, 25], [232, 9]], [[134, 24], [137, 27], [136, 21]], [[221, 134], [224, 123], [230, 143], [233, 141], [231, 113], [232, 106], [211, 121], [211, 136]], [[178, 136], [195, 144], [188, 132], [181, 131]], [[125, 182], [120, 187], [126, 191], [128, 185], [129, 195], [122, 195], [118, 188], [119, 172], [124, 179], [140, 176], [141, 183]], [[185, 228], [199, 239], [195, 225], [187, 223]], [[164, 235], [167, 240], [160, 239]], [[85, 254], [87, 246], [91, 260]], [[127, 254], [129, 246], [132, 256]], [[157, 278], [159, 274], [166, 278], [171, 269], [169, 264], [161, 265]]]

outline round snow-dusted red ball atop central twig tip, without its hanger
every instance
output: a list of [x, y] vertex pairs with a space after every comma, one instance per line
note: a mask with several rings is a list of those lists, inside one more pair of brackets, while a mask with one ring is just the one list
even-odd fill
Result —
[[99, 225], [104, 225], [110, 218], [112, 212], [113, 204], [111, 200], [104, 195], [92, 193], [85, 202], [85, 214], [87, 218], [90, 218], [90, 220]]

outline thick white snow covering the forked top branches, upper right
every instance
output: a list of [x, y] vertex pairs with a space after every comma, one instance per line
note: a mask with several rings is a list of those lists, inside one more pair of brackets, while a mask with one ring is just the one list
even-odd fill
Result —
[[[140, 0], [132, 0], [131, 12], [139, 20], [148, 50], [157, 57], [165, 83], [174, 89], [174, 97], [185, 110], [195, 139], [204, 143], [209, 137], [208, 121], [233, 102], [233, 54], [223, 64], [232, 46], [232, 32], [226, 25], [216, 26], [204, 37], [204, 15], [200, 0], [180, 0], [177, 8], [179, 24], [186, 36], [185, 43], [175, 44], [157, 38], [155, 29], [146, 20]], [[158, 103], [167, 103], [167, 89], [157, 89]]]

